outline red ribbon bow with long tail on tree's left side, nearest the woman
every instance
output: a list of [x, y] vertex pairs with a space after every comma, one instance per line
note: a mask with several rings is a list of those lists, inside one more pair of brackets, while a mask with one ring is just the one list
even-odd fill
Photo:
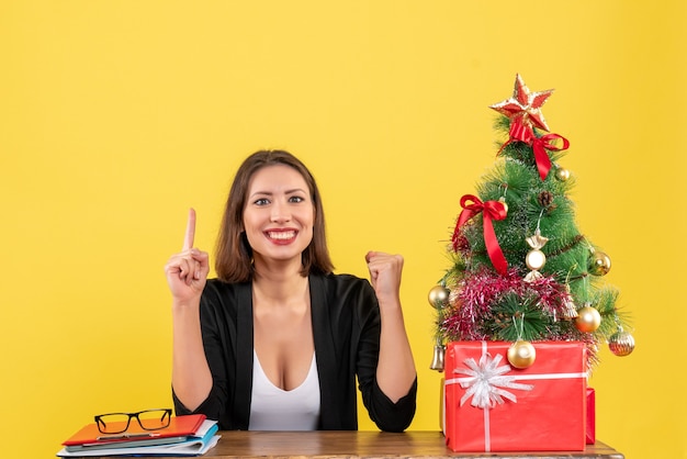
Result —
[[[472, 204], [469, 203], [472, 201]], [[465, 194], [461, 198], [461, 208], [463, 210], [458, 217], [455, 229], [453, 231], [453, 240], [458, 238], [460, 228], [473, 216], [480, 212], [483, 213], [482, 220], [484, 221], [484, 243], [486, 245], [486, 251], [489, 255], [492, 265], [500, 273], [505, 275], [508, 270], [508, 261], [504, 257], [504, 253], [498, 245], [496, 233], [494, 232], [494, 224], [492, 220], [506, 219], [506, 206], [500, 201], [480, 201], [480, 198], [473, 194]]]

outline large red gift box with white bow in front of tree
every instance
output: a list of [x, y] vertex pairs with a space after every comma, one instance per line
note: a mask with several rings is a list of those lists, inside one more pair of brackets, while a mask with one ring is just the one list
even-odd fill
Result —
[[586, 348], [533, 343], [526, 369], [508, 363], [511, 343], [453, 342], [446, 349], [444, 435], [453, 451], [582, 451]]

